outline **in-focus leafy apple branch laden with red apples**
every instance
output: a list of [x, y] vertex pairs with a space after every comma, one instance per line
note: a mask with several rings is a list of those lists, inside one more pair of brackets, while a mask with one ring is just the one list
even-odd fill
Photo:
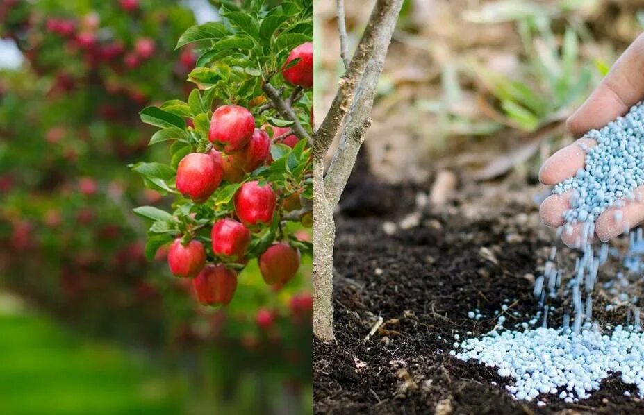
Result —
[[170, 271], [190, 278], [204, 305], [228, 305], [249, 261], [279, 289], [312, 252], [289, 225], [312, 224], [312, 4], [245, 3], [223, 3], [222, 22], [179, 37], [176, 47], [197, 56], [195, 87], [140, 112], [167, 162], [131, 165], [174, 198], [172, 210], [134, 210], [151, 221], [145, 254], [169, 246]]

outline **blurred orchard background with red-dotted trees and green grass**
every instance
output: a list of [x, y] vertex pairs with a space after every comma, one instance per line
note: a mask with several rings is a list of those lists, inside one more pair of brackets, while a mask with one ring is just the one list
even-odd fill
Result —
[[188, 98], [174, 46], [217, 6], [0, 0], [0, 414], [311, 412], [310, 257], [202, 307], [132, 213], [170, 203], [127, 167], [168, 157], [138, 112]]

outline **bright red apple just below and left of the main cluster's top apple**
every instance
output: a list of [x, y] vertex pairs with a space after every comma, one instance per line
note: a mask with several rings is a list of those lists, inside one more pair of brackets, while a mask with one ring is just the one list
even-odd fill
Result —
[[206, 201], [222, 181], [224, 171], [208, 154], [190, 153], [176, 167], [176, 189], [197, 202]]

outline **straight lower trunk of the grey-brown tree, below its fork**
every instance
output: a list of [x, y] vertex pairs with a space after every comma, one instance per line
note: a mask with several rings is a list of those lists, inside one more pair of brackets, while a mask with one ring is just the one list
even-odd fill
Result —
[[313, 158], [313, 334], [333, 340], [333, 205], [324, 192], [324, 158]]

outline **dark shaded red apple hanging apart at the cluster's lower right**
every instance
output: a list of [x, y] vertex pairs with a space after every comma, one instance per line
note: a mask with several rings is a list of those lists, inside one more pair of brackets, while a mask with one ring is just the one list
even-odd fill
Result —
[[270, 246], [259, 259], [259, 270], [268, 285], [283, 284], [295, 277], [299, 269], [299, 251], [279, 242]]

